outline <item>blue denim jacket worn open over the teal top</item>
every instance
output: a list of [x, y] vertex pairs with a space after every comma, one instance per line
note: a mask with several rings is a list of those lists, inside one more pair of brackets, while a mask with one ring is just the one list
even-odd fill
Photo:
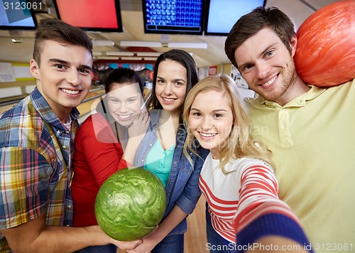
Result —
[[[146, 156], [151, 150], [157, 138], [157, 129], [159, 122], [159, 115], [161, 110], [152, 110], [151, 124], [144, 137], [141, 145], [138, 147], [136, 157], [134, 160], [134, 166], [144, 167]], [[176, 146], [173, 155], [173, 166], [170, 171], [168, 178], [168, 183], [165, 187], [166, 192], [166, 209], [163, 216], [165, 219], [169, 212], [173, 209], [175, 205], [188, 215], [192, 213], [195, 209], [197, 201], [200, 198], [201, 192], [199, 188], [199, 178], [204, 158], [206, 158], [209, 151], [202, 149], [200, 146], [195, 150], [200, 157], [196, 156], [190, 152], [192, 158], [192, 163], [187, 160], [185, 155], [182, 153], [182, 148], [186, 139], [186, 130], [183, 125], [178, 127], [178, 133], [176, 134]], [[169, 235], [179, 235], [185, 233], [187, 230], [186, 218], [180, 222], [169, 234]]]

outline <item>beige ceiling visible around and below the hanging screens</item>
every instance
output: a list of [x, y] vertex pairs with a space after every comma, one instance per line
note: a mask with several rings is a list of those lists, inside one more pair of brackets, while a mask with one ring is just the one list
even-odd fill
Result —
[[[249, 0], [245, 0], [249, 1]], [[316, 9], [339, 0], [268, 0], [267, 6], [277, 6], [293, 19], [296, 28]], [[51, 0], [47, 0], [51, 4]], [[113, 46], [94, 46], [94, 52], [125, 51], [120, 41], [160, 41], [159, 34], [145, 34], [141, 0], [120, 0], [124, 33], [88, 33], [93, 40], [114, 41]], [[54, 6], [51, 14], [36, 14], [37, 18], [56, 17]], [[0, 31], [0, 61], [28, 63], [32, 57], [34, 31]], [[22, 43], [12, 43], [11, 38], [21, 38]], [[166, 38], [165, 38], [166, 39]], [[192, 53], [198, 68], [229, 63], [224, 53], [225, 36], [169, 35], [169, 42], [206, 42], [207, 49], [183, 48]], [[165, 52], [171, 48], [151, 48]], [[142, 50], [135, 48], [134, 50]], [[144, 50], [144, 49], [143, 49]], [[134, 63], [134, 62], [133, 62]]]

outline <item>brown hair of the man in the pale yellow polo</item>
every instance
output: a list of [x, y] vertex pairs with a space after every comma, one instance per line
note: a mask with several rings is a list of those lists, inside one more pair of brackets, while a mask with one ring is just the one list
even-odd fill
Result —
[[238, 68], [234, 57], [236, 49], [265, 27], [273, 29], [288, 51], [292, 52], [290, 42], [295, 36], [295, 27], [290, 18], [276, 7], [258, 7], [249, 14], [241, 16], [226, 37], [224, 51], [236, 68]]

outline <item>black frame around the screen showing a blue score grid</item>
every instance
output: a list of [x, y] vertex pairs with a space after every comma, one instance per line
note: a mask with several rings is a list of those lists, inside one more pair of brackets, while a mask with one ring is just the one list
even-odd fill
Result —
[[184, 35], [203, 35], [204, 31], [204, 8], [206, 6], [206, 0], [202, 0], [201, 9], [201, 21], [200, 21], [200, 31], [193, 31], [184, 26], [160, 26], [160, 29], [148, 29], [147, 28], [147, 11], [146, 11], [146, 1], [142, 0], [142, 11], [143, 11], [143, 26], [144, 33], [158, 33], [158, 34], [184, 34]]

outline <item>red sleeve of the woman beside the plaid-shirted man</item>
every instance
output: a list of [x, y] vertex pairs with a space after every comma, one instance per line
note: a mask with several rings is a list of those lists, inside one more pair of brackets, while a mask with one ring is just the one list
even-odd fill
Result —
[[122, 159], [123, 149], [111, 126], [101, 114], [92, 116], [80, 126], [75, 136], [75, 151], [82, 154], [80, 157], [85, 160], [94, 181], [101, 187], [112, 173], [126, 168], [127, 164]]

